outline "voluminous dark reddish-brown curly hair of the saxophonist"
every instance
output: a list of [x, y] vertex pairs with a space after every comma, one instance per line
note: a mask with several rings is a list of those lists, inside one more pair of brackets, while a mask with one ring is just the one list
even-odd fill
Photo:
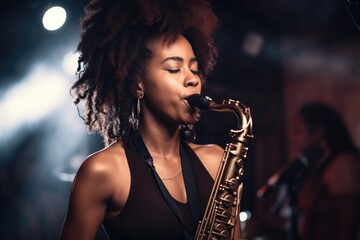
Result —
[[147, 43], [160, 35], [170, 44], [182, 34], [199, 60], [204, 83], [217, 51], [217, 18], [205, 0], [93, 0], [84, 9], [77, 80], [71, 88], [76, 105], [84, 105], [84, 122], [106, 145], [131, 142], [131, 87], [151, 57]]

